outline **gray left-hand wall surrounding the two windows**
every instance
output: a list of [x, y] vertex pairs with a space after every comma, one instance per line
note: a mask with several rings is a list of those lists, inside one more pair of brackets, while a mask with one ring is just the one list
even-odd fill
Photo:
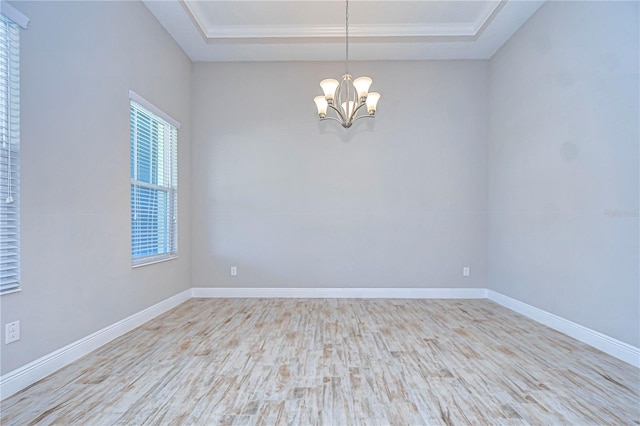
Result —
[[[140, 2], [19, 2], [22, 292], [2, 373], [190, 287], [191, 63]], [[182, 123], [180, 259], [130, 266], [129, 99]]]

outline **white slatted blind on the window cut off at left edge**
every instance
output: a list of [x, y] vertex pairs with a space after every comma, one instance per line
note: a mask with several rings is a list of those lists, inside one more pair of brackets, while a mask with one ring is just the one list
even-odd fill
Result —
[[0, 294], [20, 288], [20, 45], [0, 15]]

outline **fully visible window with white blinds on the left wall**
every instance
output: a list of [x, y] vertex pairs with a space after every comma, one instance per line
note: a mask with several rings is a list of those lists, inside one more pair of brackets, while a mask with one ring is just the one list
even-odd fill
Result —
[[138, 266], [178, 253], [180, 123], [130, 92], [131, 259]]

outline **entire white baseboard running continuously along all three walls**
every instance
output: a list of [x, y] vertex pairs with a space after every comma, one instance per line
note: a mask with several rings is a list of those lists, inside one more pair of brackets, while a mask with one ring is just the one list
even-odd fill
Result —
[[0, 377], [0, 400], [192, 298], [489, 299], [640, 368], [640, 348], [485, 288], [192, 288]]

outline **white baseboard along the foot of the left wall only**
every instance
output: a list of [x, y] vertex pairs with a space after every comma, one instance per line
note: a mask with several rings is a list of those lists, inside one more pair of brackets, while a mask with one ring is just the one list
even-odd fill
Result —
[[87, 337], [77, 340], [55, 352], [30, 362], [0, 377], [0, 400], [3, 400], [22, 389], [34, 384], [49, 374], [71, 364], [73, 361], [109, 343], [117, 337], [141, 326], [145, 322], [172, 309], [190, 299], [191, 289], [178, 293], [149, 308], [131, 315], [115, 324], [96, 331]]

